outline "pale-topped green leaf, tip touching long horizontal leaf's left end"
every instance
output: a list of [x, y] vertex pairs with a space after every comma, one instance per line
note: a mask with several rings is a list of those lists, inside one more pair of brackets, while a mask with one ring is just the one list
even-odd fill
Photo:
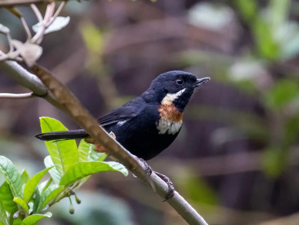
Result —
[[41, 212], [57, 195], [59, 195], [64, 189], [64, 186], [59, 186], [57, 184], [48, 187], [44, 193], [41, 194], [39, 205], [36, 209], [36, 213]]

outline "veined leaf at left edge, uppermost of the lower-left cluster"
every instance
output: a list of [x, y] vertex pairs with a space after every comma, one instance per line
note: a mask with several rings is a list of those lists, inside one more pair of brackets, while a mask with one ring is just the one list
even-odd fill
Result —
[[0, 155], [0, 172], [9, 184], [13, 196], [21, 196], [22, 179], [15, 165], [6, 157]]

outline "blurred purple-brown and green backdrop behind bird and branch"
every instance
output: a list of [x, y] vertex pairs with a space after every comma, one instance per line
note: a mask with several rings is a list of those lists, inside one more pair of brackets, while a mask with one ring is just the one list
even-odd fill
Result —
[[[19, 9], [30, 27], [37, 23], [29, 7]], [[186, 108], [178, 138], [149, 161], [208, 224], [299, 224], [299, 1], [70, 1], [61, 14], [68, 15], [66, 28], [46, 35], [39, 63], [95, 117], [160, 73], [211, 77]], [[4, 9], [0, 23], [26, 40]], [[0, 77], [1, 92], [28, 92]], [[43, 99], [1, 99], [0, 154], [31, 176], [47, 155], [33, 138], [40, 116], [78, 128]], [[132, 174], [92, 175], [78, 196], [74, 215], [63, 200], [40, 224], [186, 224]]]

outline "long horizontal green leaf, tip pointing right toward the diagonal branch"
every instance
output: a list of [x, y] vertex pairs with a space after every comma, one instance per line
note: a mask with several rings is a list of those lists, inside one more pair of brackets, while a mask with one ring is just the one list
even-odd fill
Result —
[[77, 180], [82, 179], [83, 177], [103, 171], [118, 171], [123, 173], [125, 176], [127, 175], [127, 171], [119, 171], [106, 162], [78, 162], [71, 166], [68, 171], [62, 176], [60, 185], [68, 186], [73, 184]]

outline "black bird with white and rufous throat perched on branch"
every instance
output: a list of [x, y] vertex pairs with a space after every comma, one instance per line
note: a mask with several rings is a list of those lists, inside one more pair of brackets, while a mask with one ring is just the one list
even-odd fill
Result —
[[[147, 161], [165, 150], [178, 136], [183, 112], [196, 89], [209, 77], [197, 78], [192, 73], [174, 70], [158, 75], [149, 88], [135, 99], [103, 115], [98, 123], [123, 147], [136, 155], [152, 173]], [[35, 135], [42, 141], [84, 139], [94, 144], [94, 151], [109, 152], [84, 130], [47, 132]], [[155, 171], [154, 171], [155, 172]], [[174, 195], [170, 179], [155, 172], [168, 185], [167, 200]]]

